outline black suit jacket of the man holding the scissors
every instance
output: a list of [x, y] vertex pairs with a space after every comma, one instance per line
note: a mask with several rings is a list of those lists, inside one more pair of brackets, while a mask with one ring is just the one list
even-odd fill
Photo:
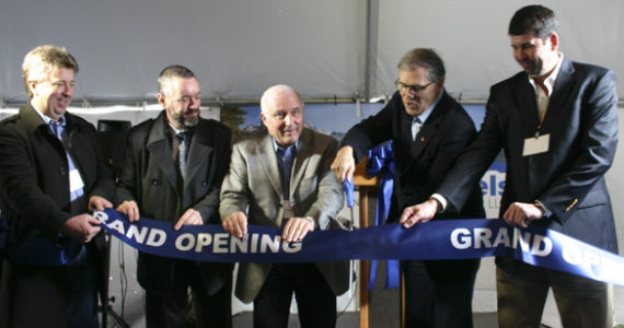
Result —
[[[354, 149], [356, 162], [366, 152], [392, 140], [395, 163], [394, 190], [389, 222], [396, 222], [403, 209], [420, 203], [431, 196], [453, 167], [461, 152], [476, 137], [474, 122], [446, 91], [426, 121], [416, 141], [412, 139], [413, 117], [407, 115], [401, 94], [396, 92], [377, 115], [354, 126], [342, 145]], [[470, 201], [461, 211], [438, 213], [434, 220], [485, 218], [478, 181], [470, 186]], [[475, 260], [425, 261], [430, 277], [457, 280], [474, 276]]]

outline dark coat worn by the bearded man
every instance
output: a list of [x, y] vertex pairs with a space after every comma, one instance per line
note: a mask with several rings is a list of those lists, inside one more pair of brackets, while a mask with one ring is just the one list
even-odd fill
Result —
[[[232, 133], [224, 125], [199, 119], [188, 147], [187, 178], [178, 184], [177, 164], [172, 156], [171, 132], [164, 110], [128, 132], [126, 155], [115, 203], [135, 200], [141, 216], [176, 222], [187, 210], [201, 214], [206, 224], [220, 224], [219, 190], [230, 161]], [[175, 260], [139, 253], [137, 278], [153, 292], [173, 288]], [[213, 293], [229, 281], [233, 265], [197, 262]]]

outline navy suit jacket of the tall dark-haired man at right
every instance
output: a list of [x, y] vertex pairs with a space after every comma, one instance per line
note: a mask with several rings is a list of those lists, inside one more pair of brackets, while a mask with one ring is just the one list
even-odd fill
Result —
[[[564, 58], [540, 131], [550, 134], [548, 151], [523, 156], [524, 140], [539, 129], [535, 92], [524, 72], [492, 86], [479, 134], [439, 192], [461, 206], [467, 185], [502, 149], [507, 179], [500, 215], [515, 201], [540, 200], [553, 214], [533, 224], [617, 251], [604, 184], [617, 144], [616, 103], [612, 71]], [[515, 266], [501, 258], [497, 263], [508, 270]]]

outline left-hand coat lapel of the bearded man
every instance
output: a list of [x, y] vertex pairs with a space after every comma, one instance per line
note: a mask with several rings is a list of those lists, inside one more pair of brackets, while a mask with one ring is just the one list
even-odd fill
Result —
[[164, 176], [169, 183], [177, 190], [177, 173], [175, 163], [171, 156], [171, 144], [166, 138], [167, 131], [165, 129], [165, 116], [162, 112], [154, 124], [148, 136], [147, 148], [151, 154], [153, 161], [163, 172]]

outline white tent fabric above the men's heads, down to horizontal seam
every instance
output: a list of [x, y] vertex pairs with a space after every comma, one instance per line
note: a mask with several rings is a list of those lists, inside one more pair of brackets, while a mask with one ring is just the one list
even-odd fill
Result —
[[[500, 0], [0, 0], [0, 99], [26, 99], [24, 55], [66, 46], [81, 67], [74, 98], [152, 101], [171, 63], [198, 75], [210, 102], [256, 101], [287, 83], [305, 98], [390, 94], [396, 62], [431, 47], [447, 90], [483, 101], [519, 67], [507, 24], [529, 1]], [[557, 13], [562, 49], [613, 69], [624, 98], [624, 1], [544, 1]]]

